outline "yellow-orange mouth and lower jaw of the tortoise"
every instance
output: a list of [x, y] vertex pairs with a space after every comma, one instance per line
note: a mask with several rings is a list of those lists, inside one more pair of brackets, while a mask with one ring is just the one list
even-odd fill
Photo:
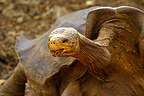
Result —
[[72, 51], [66, 51], [64, 48], [57, 50], [50, 50], [53, 56], [71, 56], [73, 54]]

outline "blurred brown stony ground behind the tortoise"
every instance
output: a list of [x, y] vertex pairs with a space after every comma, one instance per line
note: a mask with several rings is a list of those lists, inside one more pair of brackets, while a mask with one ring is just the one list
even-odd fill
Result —
[[37, 38], [58, 17], [76, 10], [121, 5], [144, 10], [144, 0], [0, 0], [0, 79], [7, 79], [18, 63], [17, 36]]

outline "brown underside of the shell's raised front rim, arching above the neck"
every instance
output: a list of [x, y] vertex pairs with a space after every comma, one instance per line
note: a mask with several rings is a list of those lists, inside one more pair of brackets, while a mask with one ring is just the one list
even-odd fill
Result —
[[134, 24], [137, 32], [132, 34], [141, 33], [141, 38], [144, 34], [144, 11], [130, 7], [99, 7], [96, 10], [88, 13], [88, 18], [86, 20], [86, 33], [85, 36], [89, 39], [96, 39], [98, 36], [98, 31], [104, 22], [113, 19], [123, 19]]

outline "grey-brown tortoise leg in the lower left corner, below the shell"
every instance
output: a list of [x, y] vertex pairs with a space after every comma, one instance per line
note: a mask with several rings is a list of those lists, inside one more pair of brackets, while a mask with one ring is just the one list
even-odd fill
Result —
[[24, 96], [26, 77], [21, 64], [18, 64], [12, 76], [0, 87], [0, 96]]

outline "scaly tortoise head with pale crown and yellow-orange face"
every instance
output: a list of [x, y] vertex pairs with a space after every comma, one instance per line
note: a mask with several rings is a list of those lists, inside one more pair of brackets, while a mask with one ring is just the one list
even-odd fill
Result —
[[75, 56], [79, 50], [78, 31], [61, 27], [48, 37], [48, 47], [53, 56]]

